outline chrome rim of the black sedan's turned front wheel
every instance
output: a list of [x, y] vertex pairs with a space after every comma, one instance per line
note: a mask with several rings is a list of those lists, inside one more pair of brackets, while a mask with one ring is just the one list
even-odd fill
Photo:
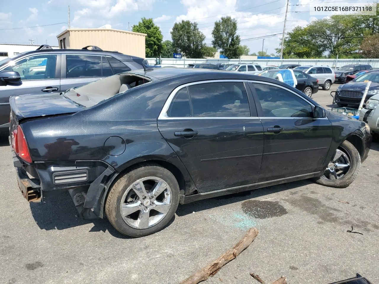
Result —
[[341, 149], [335, 151], [332, 161], [329, 162], [324, 175], [325, 179], [342, 178], [350, 169], [349, 156]]

